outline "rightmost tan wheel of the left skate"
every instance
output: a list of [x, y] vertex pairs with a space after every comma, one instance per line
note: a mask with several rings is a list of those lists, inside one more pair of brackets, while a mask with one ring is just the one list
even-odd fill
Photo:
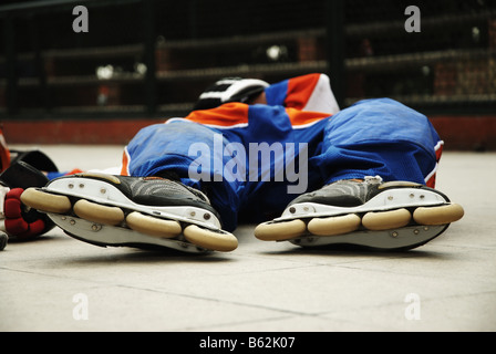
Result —
[[227, 231], [216, 232], [189, 225], [183, 235], [189, 242], [213, 251], [229, 252], [238, 247], [238, 239]]

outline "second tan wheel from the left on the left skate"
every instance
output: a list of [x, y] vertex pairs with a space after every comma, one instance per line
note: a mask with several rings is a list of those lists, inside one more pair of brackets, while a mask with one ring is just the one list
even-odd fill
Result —
[[103, 206], [85, 199], [78, 200], [73, 210], [80, 218], [93, 222], [115, 226], [124, 221], [124, 211], [121, 208]]

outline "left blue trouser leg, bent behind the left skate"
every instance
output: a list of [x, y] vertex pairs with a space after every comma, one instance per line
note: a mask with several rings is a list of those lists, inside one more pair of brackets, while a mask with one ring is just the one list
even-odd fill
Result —
[[232, 231], [237, 225], [242, 180], [219, 178], [227, 158], [223, 154], [224, 147], [228, 143], [226, 134], [192, 122], [151, 125], [140, 131], [126, 146], [128, 171], [131, 176], [173, 171], [185, 185], [209, 191], [208, 197], [220, 215], [223, 227]]

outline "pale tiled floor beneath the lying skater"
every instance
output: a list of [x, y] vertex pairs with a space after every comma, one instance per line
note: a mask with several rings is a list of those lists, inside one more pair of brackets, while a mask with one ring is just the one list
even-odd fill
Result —
[[[31, 146], [30, 146], [31, 147]], [[27, 146], [12, 146], [27, 148]], [[61, 170], [121, 146], [41, 146]], [[0, 331], [495, 331], [496, 154], [445, 153], [437, 188], [465, 217], [407, 252], [262, 242], [231, 253], [100, 248], [54, 229], [0, 252]]]

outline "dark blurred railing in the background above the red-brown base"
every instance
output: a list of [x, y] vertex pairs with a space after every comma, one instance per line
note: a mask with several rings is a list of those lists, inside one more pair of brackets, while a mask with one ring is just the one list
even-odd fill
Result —
[[[420, 32], [405, 30], [410, 4]], [[73, 31], [75, 6], [87, 32]], [[221, 76], [310, 72], [342, 107], [495, 111], [496, 1], [3, 1], [0, 22], [2, 121], [182, 116]]]

